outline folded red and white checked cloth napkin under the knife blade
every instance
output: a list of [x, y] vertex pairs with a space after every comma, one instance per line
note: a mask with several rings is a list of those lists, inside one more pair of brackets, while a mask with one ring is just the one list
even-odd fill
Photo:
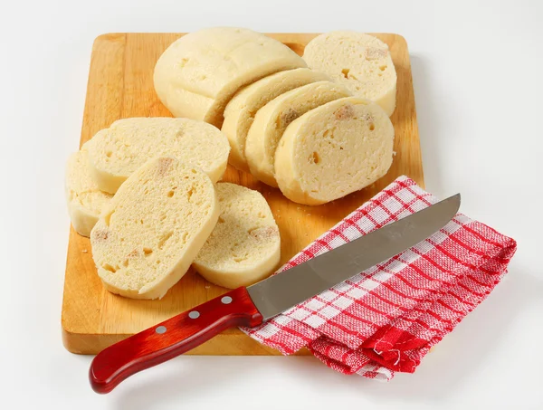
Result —
[[[276, 273], [437, 201], [400, 176]], [[395, 372], [413, 373], [428, 350], [487, 297], [516, 248], [513, 239], [458, 214], [404, 253], [242, 330], [284, 355], [307, 347], [341, 373], [390, 380]]]

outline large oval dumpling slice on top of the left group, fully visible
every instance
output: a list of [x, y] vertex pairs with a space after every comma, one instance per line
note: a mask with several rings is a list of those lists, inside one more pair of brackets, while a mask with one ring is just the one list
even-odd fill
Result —
[[149, 160], [120, 186], [90, 233], [105, 288], [133, 299], [162, 298], [218, 217], [214, 185], [202, 170], [175, 157]]

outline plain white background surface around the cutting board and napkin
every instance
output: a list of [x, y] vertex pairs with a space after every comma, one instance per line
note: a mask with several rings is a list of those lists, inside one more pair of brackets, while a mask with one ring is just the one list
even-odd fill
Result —
[[[542, 3], [2, 2], [0, 406], [543, 408]], [[314, 358], [182, 357], [99, 396], [91, 358], [62, 347], [63, 172], [80, 138], [92, 41], [211, 25], [405, 36], [427, 188], [461, 192], [463, 213], [519, 242], [508, 277], [414, 375], [379, 384]]]

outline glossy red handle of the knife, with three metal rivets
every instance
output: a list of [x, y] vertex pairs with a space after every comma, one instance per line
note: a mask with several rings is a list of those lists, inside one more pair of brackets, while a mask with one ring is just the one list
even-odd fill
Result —
[[247, 290], [229, 291], [102, 350], [90, 364], [90, 386], [109, 393], [125, 378], [175, 358], [224, 329], [261, 323]]

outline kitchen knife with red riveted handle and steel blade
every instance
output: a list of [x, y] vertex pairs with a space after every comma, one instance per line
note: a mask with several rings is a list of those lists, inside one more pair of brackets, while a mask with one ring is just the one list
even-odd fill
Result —
[[109, 393], [125, 378], [175, 358], [224, 329], [253, 328], [304, 300], [424, 241], [451, 221], [460, 194], [338, 246], [247, 288], [241, 287], [102, 350], [90, 386]]

